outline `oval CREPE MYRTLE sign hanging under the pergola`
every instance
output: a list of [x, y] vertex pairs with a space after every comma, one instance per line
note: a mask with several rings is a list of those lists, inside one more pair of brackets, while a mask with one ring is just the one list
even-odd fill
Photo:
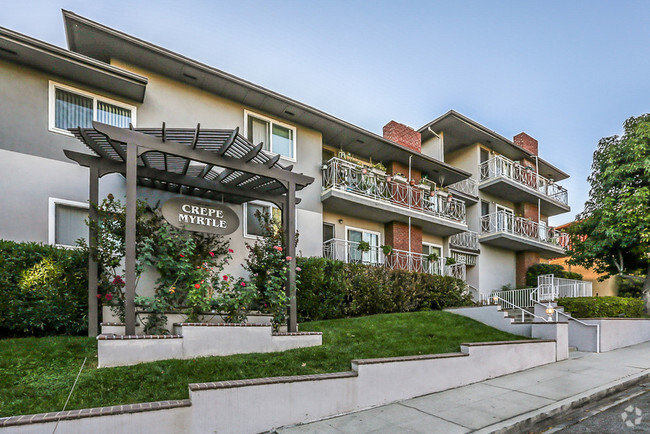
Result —
[[182, 196], [166, 201], [162, 214], [172, 226], [188, 231], [228, 235], [239, 226], [237, 214], [229, 207]]

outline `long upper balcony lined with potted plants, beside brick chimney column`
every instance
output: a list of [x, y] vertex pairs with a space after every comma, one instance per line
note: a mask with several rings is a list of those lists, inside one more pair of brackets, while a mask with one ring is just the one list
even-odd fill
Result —
[[467, 230], [465, 202], [435, 184], [409, 185], [377, 169], [332, 158], [323, 164], [321, 201], [326, 210], [387, 223], [420, 226], [449, 236]]

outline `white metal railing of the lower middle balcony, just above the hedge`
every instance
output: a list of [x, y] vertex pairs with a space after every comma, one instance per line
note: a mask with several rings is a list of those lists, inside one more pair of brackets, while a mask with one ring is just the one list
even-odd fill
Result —
[[358, 247], [358, 242], [332, 238], [323, 243], [323, 257], [347, 263], [382, 265], [393, 270], [453, 276], [463, 281], [466, 279], [465, 264], [463, 263], [445, 265], [444, 258], [430, 261], [427, 255], [422, 253], [393, 249], [390, 255], [385, 255], [379, 246], [370, 246], [368, 251], [361, 251]]

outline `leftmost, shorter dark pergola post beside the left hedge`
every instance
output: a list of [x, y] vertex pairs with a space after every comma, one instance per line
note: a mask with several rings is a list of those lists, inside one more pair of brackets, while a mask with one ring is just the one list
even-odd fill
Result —
[[88, 192], [88, 336], [97, 336], [97, 262], [92, 252], [97, 248], [96, 225], [99, 222], [97, 203], [99, 202], [99, 168], [92, 165], [89, 168]]

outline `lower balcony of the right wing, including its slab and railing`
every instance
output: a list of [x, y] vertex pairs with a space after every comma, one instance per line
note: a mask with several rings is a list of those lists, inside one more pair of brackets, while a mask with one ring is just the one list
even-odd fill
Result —
[[481, 217], [481, 244], [508, 250], [539, 252], [544, 258], [564, 255], [569, 236], [523, 217], [497, 211]]

